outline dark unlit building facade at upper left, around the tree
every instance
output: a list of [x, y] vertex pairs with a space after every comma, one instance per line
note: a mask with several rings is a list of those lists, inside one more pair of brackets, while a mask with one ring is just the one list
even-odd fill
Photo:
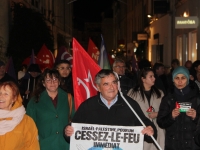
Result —
[[73, 3], [66, 0], [2, 0], [0, 1], [0, 52], [5, 54], [7, 49], [12, 20], [10, 10], [14, 3], [20, 3], [44, 15], [47, 26], [51, 29], [54, 37], [55, 51], [62, 45], [69, 47], [73, 34]]

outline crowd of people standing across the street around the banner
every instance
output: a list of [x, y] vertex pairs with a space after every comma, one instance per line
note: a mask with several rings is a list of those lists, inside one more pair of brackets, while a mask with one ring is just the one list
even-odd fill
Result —
[[200, 150], [200, 60], [180, 66], [173, 59], [169, 70], [144, 59], [137, 71], [130, 71], [122, 59], [115, 59], [112, 70], [96, 74], [97, 95], [76, 111], [69, 61], [61, 60], [43, 72], [38, 64], [23, 66], [18, 81], [5, 66], [0, 61], [3, 150], [69, 150], [71, 122], [143, 126], [124, 98], [145, 124], [144, 150]]

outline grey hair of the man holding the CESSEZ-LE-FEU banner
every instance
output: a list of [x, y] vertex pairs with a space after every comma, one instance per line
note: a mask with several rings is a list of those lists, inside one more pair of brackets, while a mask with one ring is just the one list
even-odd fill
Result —
[[105, 77], [107, 77], [107, 76], [109, 76], [111, 74], [115, 76], [116, 80], [118, 80], [117, 76], [115, 75], [115, 73], [112, 70], [110, 70], [110, 69], [102, 69], [96, 74], [95, 83], [97, 85], [99, 85], [102, 78], [105, 78]]

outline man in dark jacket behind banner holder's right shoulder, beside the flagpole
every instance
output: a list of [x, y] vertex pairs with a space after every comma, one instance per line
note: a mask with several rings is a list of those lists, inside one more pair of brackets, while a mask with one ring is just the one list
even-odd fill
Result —
[[124, 95], [127, 95], [128, 91], [135, 87], [136, 77], [130, 79], [125, 75], [126, 64], [122, 59], [115, 59], [113, 63], [113, 71], [116, 72], [119, 76], [120, 88]]

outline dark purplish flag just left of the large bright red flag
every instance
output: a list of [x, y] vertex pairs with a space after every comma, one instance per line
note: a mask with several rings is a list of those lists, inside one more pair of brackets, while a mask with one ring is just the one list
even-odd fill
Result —
[[[61, 46], [58, 50], [58, 55], [56, 57], [56, 63], [58, 63], [60, 60], [68, 60], [72, 64], [73, 57], [72, 55], [67, 51], [67, 48], [65, 46]], [[72, 65], [71, 65], [72, 66]]]

